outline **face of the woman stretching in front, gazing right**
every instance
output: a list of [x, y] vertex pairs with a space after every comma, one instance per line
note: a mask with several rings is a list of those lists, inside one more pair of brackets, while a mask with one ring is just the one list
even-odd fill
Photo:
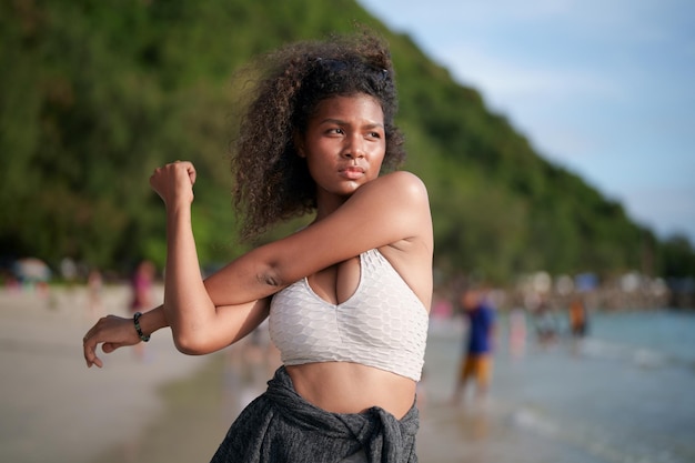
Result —
[[386, 151], [381, 105], [364, 93], [323, 100], [296, 144], [316, 182], [316, 199], [344, 200], [379, 177]]

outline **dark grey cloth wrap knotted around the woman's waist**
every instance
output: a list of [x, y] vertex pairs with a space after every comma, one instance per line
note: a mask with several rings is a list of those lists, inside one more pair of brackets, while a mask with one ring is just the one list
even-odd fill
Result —
[[419, 425], [414, 403], [401, 420], [379, 406], [326, 412], [302, 399], [281, 366], [232, 423], [211, 463], [328, 463], [355, 454], [369, 463], [416, 463]]

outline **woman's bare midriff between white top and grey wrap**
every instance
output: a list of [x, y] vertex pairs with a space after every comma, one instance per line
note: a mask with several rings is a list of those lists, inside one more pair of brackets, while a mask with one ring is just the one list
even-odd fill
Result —
[[380, 406], [400, 420], [415, 400], [415, 381], [359, 363], [306, 363], [286, 370], [298, 394], [328, 412], [362, 413]]

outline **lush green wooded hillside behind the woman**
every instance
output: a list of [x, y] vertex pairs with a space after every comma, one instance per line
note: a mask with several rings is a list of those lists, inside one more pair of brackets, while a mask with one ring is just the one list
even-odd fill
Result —
[[352, 0], [14, 0], [0, 7], [0, 255], [69, 255], [124, 269], [164, 261], [154, 167], [199, 170], [201, 261], [234, 239], [226, 143], [235, 68], [286, 41], [382, 31], [401, 91], [406, 168], [429, 185], [436, 264], [504, 281], [631, 269], [693, 274], [687, 241], [661, 243], [578, 177], [537, 155], [480, 94]]

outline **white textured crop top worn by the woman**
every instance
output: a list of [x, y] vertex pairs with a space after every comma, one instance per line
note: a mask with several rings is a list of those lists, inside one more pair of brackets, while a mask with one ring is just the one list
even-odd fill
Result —
[[429, 315], [377, 250], [360, 255], [360, 283], [341, 304], [302, 279], [271, 302], [270, 335], [285, 365], [354, 362], [420, 381]]

